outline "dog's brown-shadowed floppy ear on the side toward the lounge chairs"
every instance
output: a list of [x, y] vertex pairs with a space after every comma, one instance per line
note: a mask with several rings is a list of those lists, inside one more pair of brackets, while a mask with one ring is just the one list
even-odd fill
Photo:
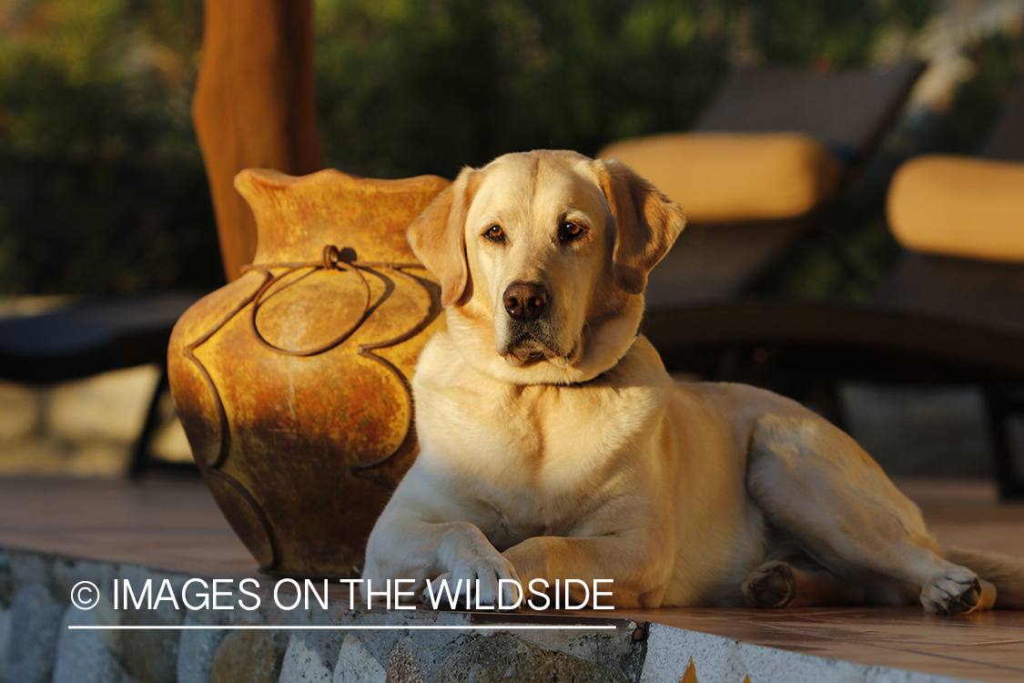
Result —
[[626, 164], [598, 159], [594, 170], [615, 219], [615, 284], [629, 294], [640, 294], [647, 273], [672, 248], [686, 218], [678, 204]]

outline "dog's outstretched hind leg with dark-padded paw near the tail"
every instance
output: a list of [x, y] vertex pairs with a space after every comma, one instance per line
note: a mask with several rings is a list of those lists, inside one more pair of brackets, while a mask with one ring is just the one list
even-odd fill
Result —
[[909, 582], [930, 612], [989, 602], [973, 571], [939, 556], [918, 507], [847, 434], [794, 411], [758, 419], [750, 443], [751, 498], [817, 563], [852, 582], [865, 572]]

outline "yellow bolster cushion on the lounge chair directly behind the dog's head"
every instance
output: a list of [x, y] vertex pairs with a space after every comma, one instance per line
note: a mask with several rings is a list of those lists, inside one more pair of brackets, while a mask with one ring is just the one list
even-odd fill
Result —
[[831, 197], [842, 166], [799, 133], [668, 133], [613, 142], [617, 159], [700, 223], [788, 218]]

